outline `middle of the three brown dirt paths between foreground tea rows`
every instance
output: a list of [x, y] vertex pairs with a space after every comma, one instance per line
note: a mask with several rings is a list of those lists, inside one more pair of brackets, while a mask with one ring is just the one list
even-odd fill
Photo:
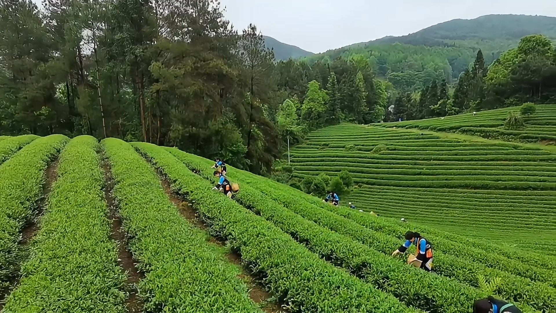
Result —
[[112, 190], [114, 188], [114, 179], [111, 175], [110, 164], [106, 159], [102, 160], [102, 170], [105, 174], [104, 194], [106, 203], [108, 204], [108, 219], [112, 222], [111, 238], [118, 246], [118, 263], [122, 271], [126, 273], [126, 281], [124, 291], [128, 294], [126, 298], [126, 308], [128, 313], [143, 312], [143, 302], [138, 296], [137, 283], [145, 277], [144, 273], [139, 272], [133, 260], [133, 253], [128, 250], [128, 239], [125, 230], [122, 228], [123, 220], [117, 203], [114, 201]]

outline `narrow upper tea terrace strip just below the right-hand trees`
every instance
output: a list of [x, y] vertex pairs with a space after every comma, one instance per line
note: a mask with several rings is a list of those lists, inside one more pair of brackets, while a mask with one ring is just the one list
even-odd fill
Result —
[[524, 130], [504, 130], [504, 121], [510, 112], [519, 113], [520, 107], [481, 111], [475, 115], [465, 113], [445, 118], [380, 123], [375, 126], [387, 128], [416, 128], [433, 131], [456, 131], [462, 134], [478, 135], [484, 138], [520, 140], [525, 142], [556, 142], [556, 104], [535, 105], [537, 111], [523, 116]]

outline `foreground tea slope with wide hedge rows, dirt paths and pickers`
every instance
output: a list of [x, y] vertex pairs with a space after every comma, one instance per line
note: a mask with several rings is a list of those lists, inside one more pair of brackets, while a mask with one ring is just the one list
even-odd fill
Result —
[[[332, 207], [230, 166], [229, 199], [211, 160], [176, 148], [51, 135], [0, 149], [2, 313], [456, 313], [491, 294], [556, 307], [545, 251]], [[390, 256], [408, 229], [433, 242], [434, 273]]]

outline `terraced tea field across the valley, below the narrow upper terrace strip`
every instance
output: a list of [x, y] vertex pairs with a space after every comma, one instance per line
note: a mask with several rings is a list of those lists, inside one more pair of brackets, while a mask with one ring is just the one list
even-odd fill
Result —
[[556, 254], [556, 154], [529, 145], [342, 124], [292, 150], [294, 175], [348, 170], [346, 199], [383, 216]]

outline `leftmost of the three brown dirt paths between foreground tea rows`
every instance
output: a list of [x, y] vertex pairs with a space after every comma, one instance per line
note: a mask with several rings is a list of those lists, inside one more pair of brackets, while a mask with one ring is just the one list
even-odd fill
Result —
[[[56, 159], [52, 160], [52, 162], [48, 164], [46, 168], [45, 180], [42, 185], [42, 197], [37, 201], [36, 206], [33, 209], [32, 217], [21, 229], [21, 238], [18, 241], [18, 251], [16, 253], [21, 253], [21, 255], [24, 256], [24, 260], [22, 260], [22, 262], [28, 259], [29, 243], [31, 242], [31, 239], [33, 239], [33, 237], [37, 234], [39, 228], [39, 219], [41, 218], [48, 204], [48, 195], [52, 190], [52, 185], [58, 178], [56, 174], [58, 164], [59, 156], [57, 156]], [[17, 268], [17, 271], [19, 270], [20, 268]], [[19, 285], [19, 278], [21, 278], [19, 273], [14, 273], [9, 281], [9, 285], [6, 288], [0, 290], [0, 310], [4, 308], [4, 302], [9, 294], [12, 292], [12, 290], [14, 290]]]

